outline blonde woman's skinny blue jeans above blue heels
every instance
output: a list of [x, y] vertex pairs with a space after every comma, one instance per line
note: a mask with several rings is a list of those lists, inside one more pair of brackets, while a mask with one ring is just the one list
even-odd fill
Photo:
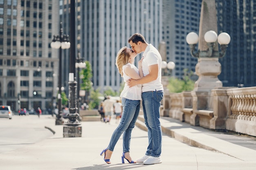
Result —
[[118, 139], [123, 134], [123, 152], [130, 152], [132, 129], [139, 116], [140, 100], [130, 100], [122, 97], [123, 112], [119, 125], [115, 129], [108, 145], [108, 150], [113, 151]]

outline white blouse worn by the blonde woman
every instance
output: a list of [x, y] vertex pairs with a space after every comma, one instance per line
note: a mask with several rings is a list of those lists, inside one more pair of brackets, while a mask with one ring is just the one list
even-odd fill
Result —
[[137, 86], [133, 86], [131, 88], [126, 84], [126, 81], [131, 78], [130, 76], [126, 75], [126, 73], [124, 73], [124, 68], [127, 65], [130, 65], [139, 74], [139, 69], [134, 64], [128, 63], [123, 66], [123, 78], [124, 78], [125, 84], [120, 97], [124, 97], [130, 100], [141, 100], [141, 84]]

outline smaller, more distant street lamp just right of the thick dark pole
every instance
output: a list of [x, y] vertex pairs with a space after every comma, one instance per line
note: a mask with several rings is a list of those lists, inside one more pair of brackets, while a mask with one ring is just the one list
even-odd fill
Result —
[[80, 53], [78, 53], [78, 56], [76, 58], [76, 68], [77, 68], [77, 113], [79, 113], [79, 108], [81, 106], [81, 98], [80, 98], [80, 68], [86, 68], [85, 62], [83, 62], [83, 59], [80, 56]]

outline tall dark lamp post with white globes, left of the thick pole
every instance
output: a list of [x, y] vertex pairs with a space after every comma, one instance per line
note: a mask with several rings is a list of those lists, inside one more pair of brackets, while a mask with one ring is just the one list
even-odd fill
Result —
[[51, 42], [51, 47], [53, 49], [59, 49], [59, 71], [58, 71], [58, 116], [56, 117], [55, 124], [62, 125], [63, 118], [62, 118], [62, 109], [61, 109], [61, 71], [62, 71], [62, 49], [69, 49], [70, 42], [69, 42], [69, 35], [63, 35], [62, 29], [62, 22], [60, 23], [60, 33], [58, 35], [53, 36], [53, 40]]

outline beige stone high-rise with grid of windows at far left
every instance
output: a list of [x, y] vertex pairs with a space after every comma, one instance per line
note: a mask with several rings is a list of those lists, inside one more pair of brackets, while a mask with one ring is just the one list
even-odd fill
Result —
[[0, 0], [0, 105], [52, 108], [56, 96], [59, 2]]

